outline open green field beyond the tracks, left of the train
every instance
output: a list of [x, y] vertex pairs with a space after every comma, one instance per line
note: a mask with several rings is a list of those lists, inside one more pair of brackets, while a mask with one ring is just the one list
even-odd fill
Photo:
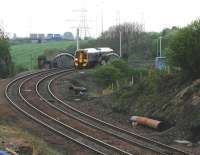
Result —
[[45, 51], [45, 49], [67, 49], [75, 46], [75, 41], [51, 41], [47, 43], [26, 43], [11, 46], [12, 61], [15, 66], [21, 66], [28, 70], [37, 67], [37, 57]]

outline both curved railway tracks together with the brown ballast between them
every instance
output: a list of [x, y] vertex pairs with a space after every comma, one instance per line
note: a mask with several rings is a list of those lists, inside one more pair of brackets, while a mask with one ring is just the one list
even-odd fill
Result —
[[52, 83], [71, 72], [49, 70], [19, 77], [8, 84], [5, 95], [27, 117], [95, 154], [190, 155], [92, 117], [56, 97]]

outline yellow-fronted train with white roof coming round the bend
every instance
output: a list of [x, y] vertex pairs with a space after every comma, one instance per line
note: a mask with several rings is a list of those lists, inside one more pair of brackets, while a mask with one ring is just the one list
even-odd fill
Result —
[[91, 68], [97, 64], [105, 64], [112, 58], [119, 58], [109, 47], [78, 49], [74, 55], [75, 68]]

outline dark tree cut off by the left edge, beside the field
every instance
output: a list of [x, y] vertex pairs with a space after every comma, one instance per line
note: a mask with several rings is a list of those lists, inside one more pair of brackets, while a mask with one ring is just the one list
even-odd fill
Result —
[[0, 77], [5, 78], [12, 68], [9, 39], [0, 29]]

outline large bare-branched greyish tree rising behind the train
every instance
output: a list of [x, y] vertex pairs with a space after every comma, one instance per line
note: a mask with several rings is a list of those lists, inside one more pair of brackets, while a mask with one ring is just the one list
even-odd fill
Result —
[[122, 34], [123, 56], [128, 58], [132, 53], [138, 52], [140, 48], [140, 41], [144, 34], [143, 25], [138, 23], [124, 23], [112, 26], [98, 38], [97, 42], [102, 46], [110, 46], [115, 51], [119, 51], [120, 32]]

